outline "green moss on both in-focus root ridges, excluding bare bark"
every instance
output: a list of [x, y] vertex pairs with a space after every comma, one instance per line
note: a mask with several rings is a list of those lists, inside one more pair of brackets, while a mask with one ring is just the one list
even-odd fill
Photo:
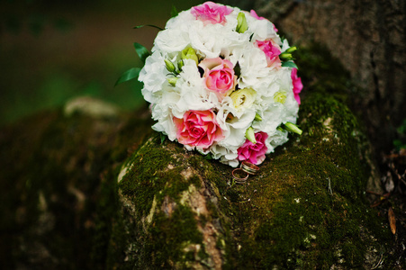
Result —
[[[291, 139], [272, 160], [267, 158], [262, 173], [251, 176], [247, 185], [229, 185], [232, 168], [199, 154], [186, 153], [186, 162], [179, 163], [184, 150], [168, 141], [160, 145], [158, 137], [140, 148], [130, 158], [136, 166], [120, 184], [139, 219], [150, 214], [154, 200], [162, 205], [168, 196], [181, 205], [180, 194], [201, 179], [212, 186], [218, 203], [208, 202], [211, 215], [199, 220], [181, 206], [170, 218], [158, 211], [147, 231], [138, 222], [138, 241], [140, 236], [142, 243], [151, 239], [140, 247], [144, 255], [138, 266], [142, 261], [155, 266], [193, 261], [195, 253], [185, 252], [185, 245], [202, 245], [198, 225], [218, 217], [225, 217], [221, 220], [227, 245], [223, 247], [221, 239], [216, 242], [226, 249], [225, 268], [362, 266], [366, 247], [381, 248], [360, 229], [373, 229], [376, 219], [364, 201], [367, 175], [359, 160], [356, 119], [343, 103], [322, 94], [309, 95], [302, 108], [302, 137]], [[185, 181], [180, 175], [187, 166], [196, 175]]]

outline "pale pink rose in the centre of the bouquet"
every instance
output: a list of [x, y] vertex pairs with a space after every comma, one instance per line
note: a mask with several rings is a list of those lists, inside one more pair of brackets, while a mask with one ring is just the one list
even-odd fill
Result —
[[215, 92], [220, 99], [237, 85], [237, 76], [234, 75], [234, 67], [229, 60], [205, 58], [199, 67], [204, 70], [204, 87]]

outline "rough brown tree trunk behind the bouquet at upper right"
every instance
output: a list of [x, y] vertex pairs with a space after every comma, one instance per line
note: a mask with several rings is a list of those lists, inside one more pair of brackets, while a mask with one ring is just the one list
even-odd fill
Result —
[[[356, 112], [378, 150], [390, 149], [406, 117], [406, 2], [396, 0], [229, 0], [255, 9], [293, 43], [318, 42], [349, 71]], [[317, 76], [317, 75], [316, 75]]]

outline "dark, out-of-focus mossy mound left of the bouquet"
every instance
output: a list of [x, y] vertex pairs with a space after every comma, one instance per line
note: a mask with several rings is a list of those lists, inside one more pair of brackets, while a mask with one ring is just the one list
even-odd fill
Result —
[[[104, 269], [113, 168], [148, 136], [147, 110], [40, 112], [0, 130], [2, 269]], [[91, 110], [93, 104], [99, 111]], [[107, 106], [107, 112], [103, 108]]]

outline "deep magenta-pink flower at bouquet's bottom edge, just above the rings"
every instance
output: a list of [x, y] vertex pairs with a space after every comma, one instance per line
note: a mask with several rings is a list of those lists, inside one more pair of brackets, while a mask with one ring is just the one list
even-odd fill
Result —
[[237, 150], [239, 161], [248, 160], [248, 162], [252, 164], [261, 164], [265, 159], [267, 150], [265, 141], [267, 138], [268, 134], [261, 131], [255, 133], [255, 139], [257, 140], [256, 144], [246, 139], [244, 144]]

